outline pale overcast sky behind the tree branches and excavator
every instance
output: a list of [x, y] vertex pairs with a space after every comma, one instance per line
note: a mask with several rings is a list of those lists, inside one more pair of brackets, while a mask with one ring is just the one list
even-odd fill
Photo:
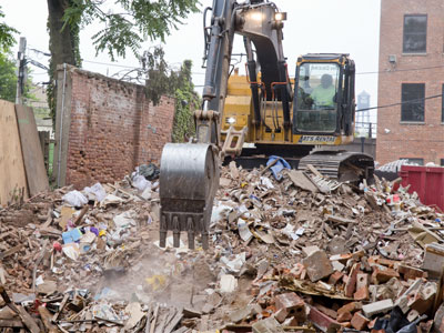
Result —
[[[379, 61], [380, 0], [275, 0], [281, 11], [287, 12], [284, 27], [284, 54], [287, 58], [290, 75], [300, 54], [309, 52], [350, 53], [356, 62], [356, 93], [365, 90], [371, 94], [371, 104], [376, 105]], [[201, 0], [202, 8], [211, 7], [212, 0]], [[0, 0], [6, 22], [26, 37], [28, 48], [48, 52], [47, 32], [48, 7], [46, 0]], [[167, 39], [167, 60], [179, 65], [185, 59], [193, 61], [194, 84], [203, 83], [202, 65], [203, 32], [202, 14], [190, 16], [184, 26]], [[112, 75], [124, 70], [117, 65], [139, 67], [138, 60], [128, 52], [127, 59], [111, 63], [105, 53], [95, 57], [91, 36], [99, 24], [87, 27], [80, 34], [80, 50], [83, 68]], [[241, 37], [236, 38], [234, 52], [242, 52]], [[144, 49], [159, 42], [145, 42]], [[46, 62], [47, 58], [29, 51], [29, 57]], [[97, 64], [102, 62], [107, 64]], [[243, 68], [243, 64], [241, 65]], [[47, 80], [41, 69], [33, 69], [34, 82]], [[199, 89], [200, 91], [200, 89]]]

